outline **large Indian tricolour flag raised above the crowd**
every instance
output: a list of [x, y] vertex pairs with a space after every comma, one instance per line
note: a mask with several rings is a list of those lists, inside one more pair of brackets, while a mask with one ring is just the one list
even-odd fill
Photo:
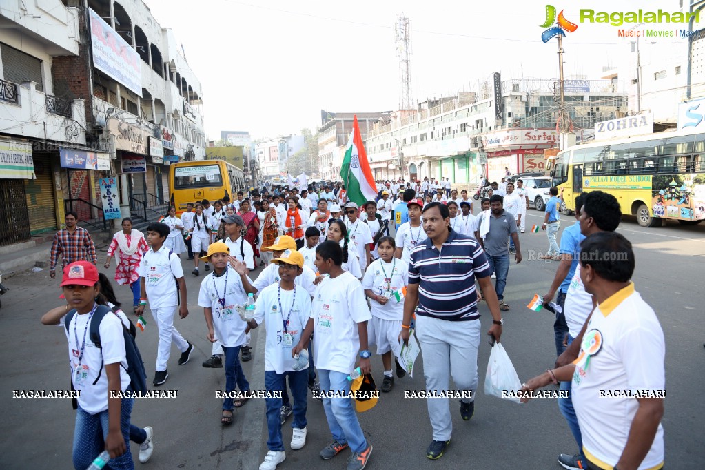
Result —
[[369, 200], [374, 201], [377, 189], [362, 145], [357, 116], [353, 116], [353, 132], [350, 132], [348, 149], [345, 150], [345, 158], [341, 165], [341, 178], [345, 183], [345, 189], [348, 190], [349, 201], [357, 203], [358, 206], [362, 206]]

